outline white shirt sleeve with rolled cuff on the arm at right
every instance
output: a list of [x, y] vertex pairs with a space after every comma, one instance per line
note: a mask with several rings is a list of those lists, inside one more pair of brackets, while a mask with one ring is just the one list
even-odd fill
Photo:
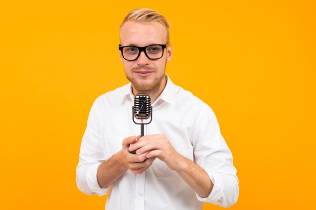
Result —
[[236, 168], [215, 116], [210, 107], [200, 110], [193, 131], [195, 162], [206, 171], [214, 186], [208, 197], [199, 201], [229, 207], [237, 202], [239, 195]]

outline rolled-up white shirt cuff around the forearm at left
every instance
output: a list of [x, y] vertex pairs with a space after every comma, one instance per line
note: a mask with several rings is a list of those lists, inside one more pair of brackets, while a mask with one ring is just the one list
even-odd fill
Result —
[[100, 164], [101, 163], [94, 164], [87, 170], [86, 179], [87, 179], [88, 187], [90, 188], [92, 192], [96, 193], [97, 195], [105, 195], [107, 194], [109, 187], [101, 188], [99, 186], [99, 183], [97, 182], [97, 176], [96, 176], [97, 169]]

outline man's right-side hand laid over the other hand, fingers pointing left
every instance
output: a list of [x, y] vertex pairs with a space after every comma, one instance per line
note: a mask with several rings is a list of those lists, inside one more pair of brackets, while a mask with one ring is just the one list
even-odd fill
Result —
[[178, 171], [184, 167], [184, 157], [175, 150], [164, 134], [142, 136], [131, 146], [130, 151], [137, 150], [136, 155], [146, 155], [148, 159], [157, 157], [171, 170]]

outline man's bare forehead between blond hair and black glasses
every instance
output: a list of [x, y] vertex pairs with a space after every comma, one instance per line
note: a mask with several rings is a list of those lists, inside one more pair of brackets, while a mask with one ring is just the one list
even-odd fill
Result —
[[126, 22], [120, 33], [121, 45], [146, 46], [150, 44], [166, 44], [167, 29], [157, 22]]

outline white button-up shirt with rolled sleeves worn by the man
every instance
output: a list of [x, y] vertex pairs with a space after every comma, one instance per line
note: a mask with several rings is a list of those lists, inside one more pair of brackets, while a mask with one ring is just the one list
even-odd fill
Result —
[[[167, 79], [152, 104], [152, 122], [145, 125], [145, 135], [164, 133], [178, 153], [206, 171], [213, 190], [208, 197], [200, 197], [175, 171], [155, 159], [144, 173], [134, 175], [127, 170], [113, 183], [107, 210], [192, 210], [202, 209], [203, 202], [228, 207], [237, 201], [236, 169], [213, 110]], [[83, 193], [107, 193], [108, 188], [100, 188], [97, 182], [99, 164], [122, 149], [125, 137], [140, 134], [140, 125], [132, 121], [133, 102], [131, 83], [94, 101], [76, 169], [77, 186]]]

